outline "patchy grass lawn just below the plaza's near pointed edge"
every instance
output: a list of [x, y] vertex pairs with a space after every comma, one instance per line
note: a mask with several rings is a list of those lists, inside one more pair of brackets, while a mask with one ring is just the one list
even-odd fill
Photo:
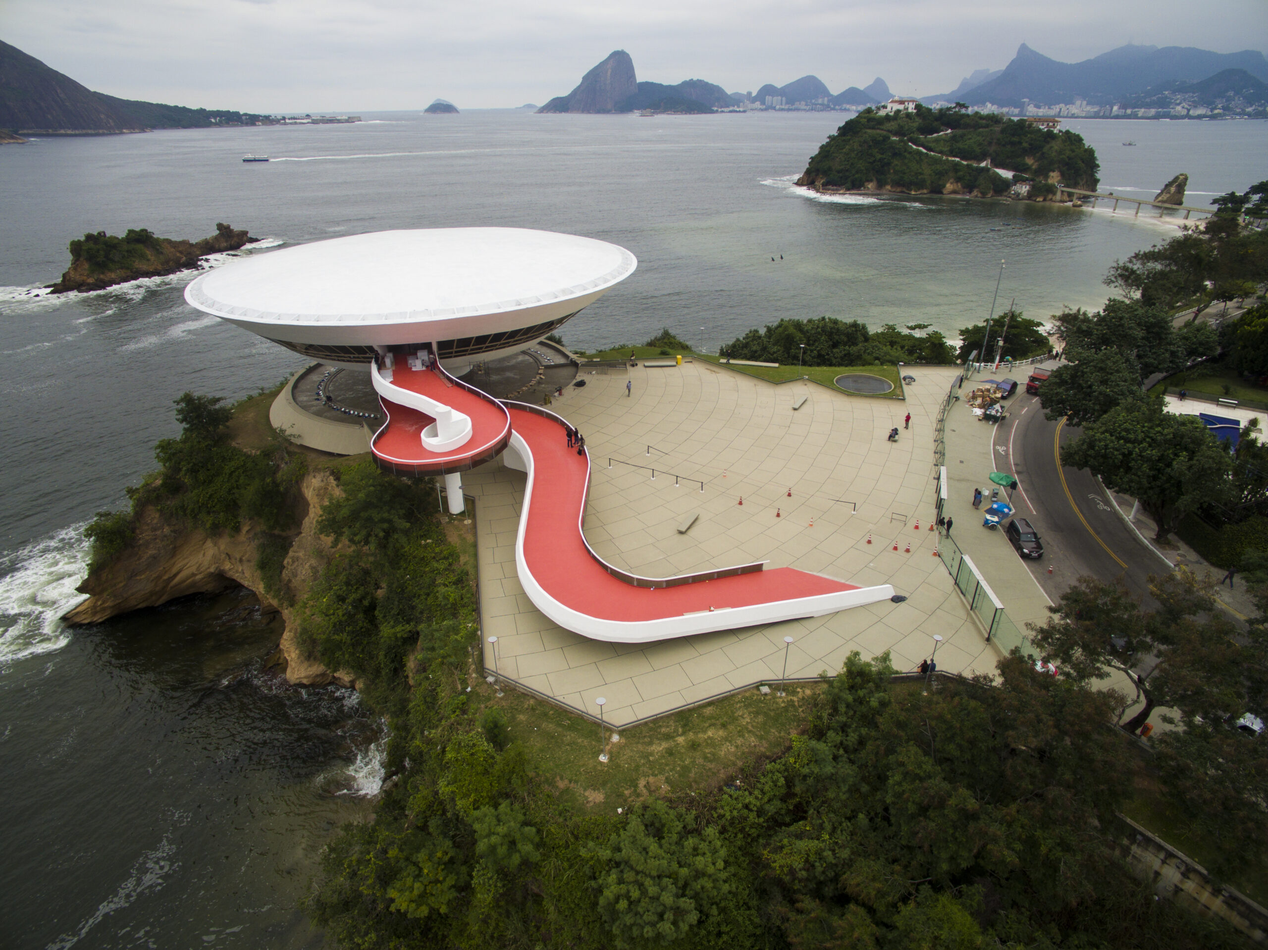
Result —
[[[483, 687], [484, 684], [481, 683]], [[620, 733], [598, 761], [598, 723], [507, 688], [492, 698], [533, 768], [582, 812], [615, 814], [649, 795], [689, 797], [734, 779], [749, 763], [786, 751], [822, 687], [794, 683], [787, 695], [756, 688]], [[609, 733], [611, 730], [609, 730]]]

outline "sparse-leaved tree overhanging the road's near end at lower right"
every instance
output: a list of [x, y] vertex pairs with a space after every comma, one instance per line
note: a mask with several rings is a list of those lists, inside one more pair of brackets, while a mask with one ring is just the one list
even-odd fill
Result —
[[1126, 675], [1144, 703], [1122, 723], [1127, 732], [1139, 732], [1159, 706], [1189, 721], [1222, 719], [1244, 708], [1244, 674], [1259, 662], [1216, 611], [1210, 584], [1183, 571], [1151, 578], [1150, 592], [1160, 604], [1154, 612], [1141, 611], [1120, 584], [1079, 578], [1049, 608], [1044, 626], [1030, 624], [1031, 642], [1078, 683], [1111, 670]]

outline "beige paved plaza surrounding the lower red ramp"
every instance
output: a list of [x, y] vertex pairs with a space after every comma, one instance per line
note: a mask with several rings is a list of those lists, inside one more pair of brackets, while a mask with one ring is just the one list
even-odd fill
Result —
[[[940, 669], [990, 671], [997, 655], [933, 556], [937, 532], [927, 529], [933, 418], [956, 372], [910, 372], [917, 383], [904, 402], [775, 385], [706, 362], [583, 371], [587, 385], [550, 408], [586, 437], [593, 464], [586, 536], [602, 557], [647, 576], [765, 560], [852, 584], [889, 583], [908, 600], [647, 645], [587, 640], [554, 626], [521, 589], [515, 536], [525, 475], [495, 461], [463, 479], [476, 499], [486, 668], [591, 716], [604, 697], [616, 726], [777, 681], [786, 636], [789, 679], [836, 671], [852, 650], [867, 657], [889, 650], [895, 668], [913, 669], [935, 633], [945, 638]], [[886, 441], [907, 412], [912, 428]], [[691, 514], [699, 519], [680, 535]]]

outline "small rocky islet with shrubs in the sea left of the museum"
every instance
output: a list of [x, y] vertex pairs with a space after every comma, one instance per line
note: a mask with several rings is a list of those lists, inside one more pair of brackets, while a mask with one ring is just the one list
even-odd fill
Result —
[[237, 251], [252, 241], [246, 231], [217, 224], [216, 233], [202, 241], [161, 238], [145, 228], [114, 237], [99, 231], [71, 241], [71, 266], [52, 285], [55, 294], [77, 290], [103, 290], [138, 277], [158, 277], [189, 270], [200, 257]]

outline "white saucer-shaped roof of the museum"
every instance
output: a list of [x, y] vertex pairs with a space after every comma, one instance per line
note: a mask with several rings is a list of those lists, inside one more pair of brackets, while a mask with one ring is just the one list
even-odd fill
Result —
[[635, 266], [624, 247], [550, 231], [379, 231], [233, 261], [193, 281], [185, 299], [251, 323], [418, 323], [591, 296]]

